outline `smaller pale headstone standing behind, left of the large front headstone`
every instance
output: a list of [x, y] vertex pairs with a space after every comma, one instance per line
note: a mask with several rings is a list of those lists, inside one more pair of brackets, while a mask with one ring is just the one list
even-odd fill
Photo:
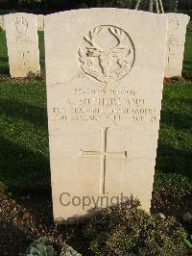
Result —
[[38, 73], [39, 51], [36, 15], [13, 13], [4, 16], [10, 73], [12, 77], [26, 77]]

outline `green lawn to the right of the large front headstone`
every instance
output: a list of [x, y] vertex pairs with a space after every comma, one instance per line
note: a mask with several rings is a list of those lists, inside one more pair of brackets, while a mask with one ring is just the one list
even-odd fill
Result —
[[163, 91], [155, 188], [192, 191], [192, 84]]

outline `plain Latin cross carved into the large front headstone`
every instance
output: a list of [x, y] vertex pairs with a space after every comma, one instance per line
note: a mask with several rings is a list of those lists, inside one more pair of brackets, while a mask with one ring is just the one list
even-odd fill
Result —
[[105, 183], [106, 183], [106, 158], [109, 157], [120, 157], [127, 159], [127, 151], [123, 152], [107, 152], [107, 132], [108, 127], [101, 127], [101, 150], [100, 151], [83, 151], [80, 149], [80, 156], [91, 157], [99, 156], [101, 160], [101, 173], [100, 173], [100, 193], [105, 194]]

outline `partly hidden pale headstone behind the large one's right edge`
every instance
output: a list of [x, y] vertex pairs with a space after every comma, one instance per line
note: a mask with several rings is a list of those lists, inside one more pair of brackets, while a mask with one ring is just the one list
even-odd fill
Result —
[[166, 13], [168, 17], [167, 56], [165, 77], [181, 76], [186, 26], [190, 17], [180, 13]]

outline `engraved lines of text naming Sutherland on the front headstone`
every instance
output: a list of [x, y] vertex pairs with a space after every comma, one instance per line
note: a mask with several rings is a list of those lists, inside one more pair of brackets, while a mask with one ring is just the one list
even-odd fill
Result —
[[120, 122], [131, 118], [135, 122], [156, 122], [156, 109], [136, 90], [74, 89], [71, 97], [63, 98], [62, 106], [51, 111], [52, 121], [60, 122]]

